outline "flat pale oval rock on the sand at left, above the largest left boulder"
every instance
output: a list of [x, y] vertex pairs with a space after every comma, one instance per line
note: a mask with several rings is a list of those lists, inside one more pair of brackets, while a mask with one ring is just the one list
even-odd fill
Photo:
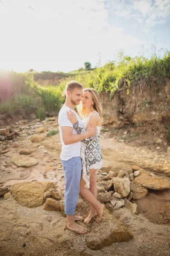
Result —
[[24, 155], [14, 155], [11, 157], [11, 162], [17, 166], [30, 167], [38, 164], [38, 160], [33, 157], [26, 157]]

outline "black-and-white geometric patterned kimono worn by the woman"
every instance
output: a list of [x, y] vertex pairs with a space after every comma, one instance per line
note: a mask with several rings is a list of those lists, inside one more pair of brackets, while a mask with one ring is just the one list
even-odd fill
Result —
[[[73, 127], [76, 129], [78, 134], [82, 134], [85, 130], [77, 121]], [[96, 134], [94, 137], [88, 137], [81, 141], [81, 159], [82, 159], [82, 178], [86, 182], [86, 186], [90, 187], [90, 173], [89, 167], [97, 162], [100, 162], [102, 157], [101, 148], [99, 145], [99, 135]]]

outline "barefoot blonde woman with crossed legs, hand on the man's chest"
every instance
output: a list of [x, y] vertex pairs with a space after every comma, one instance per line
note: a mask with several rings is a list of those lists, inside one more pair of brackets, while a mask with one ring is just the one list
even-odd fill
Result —
[[[83, 127], [77, 121], [74, 112], [68, 112], [68, 119], [72, 122], [77, 133], [85, 132], [89, 126], [97, 128], [96, 136], [86, 138], [81, 142], [82, 178], [80, 180], [80, 195], [91, 204], [90, 213], [84, 220], [85, 223], [89, 223], [96, 214], [96, 222], [100, 222], [104, 205], [96, 199], [96, 170], [102, 168], [102, 153], [99, 145], [102, 111], [99, 93], [96, 90], [87, 88], [83, 91], [78, 112], [82, 118]], [[85, 188], [85, 184], [89, 189]]]

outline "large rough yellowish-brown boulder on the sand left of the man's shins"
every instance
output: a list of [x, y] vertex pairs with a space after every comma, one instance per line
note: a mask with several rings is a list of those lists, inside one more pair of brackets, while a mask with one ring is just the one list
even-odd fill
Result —
[[28, 181], [15, 183], [11, 187], [11, 195], [17, 202], [27, 207], [37, 207], [43, 204], [45, 191], [54, 188], [52, 182]]

